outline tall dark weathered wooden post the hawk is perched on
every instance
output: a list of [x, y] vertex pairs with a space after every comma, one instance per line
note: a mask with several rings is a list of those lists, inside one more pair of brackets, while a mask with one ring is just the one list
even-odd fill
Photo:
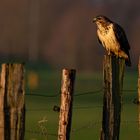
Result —
[[103, 120], [100, 140], [119, 140], [125, 60], [104, 57]]

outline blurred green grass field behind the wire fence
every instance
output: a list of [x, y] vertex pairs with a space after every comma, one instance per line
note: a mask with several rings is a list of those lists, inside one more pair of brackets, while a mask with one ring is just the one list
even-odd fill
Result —
[[[29, 71], [26, 72], [28, 75]], [[37, 71], [39, 85], [29, 90], [26, 82], [26, 94], [56, 95], [56, 97], [26, 95], [26, 131], [25, 140], [57, 140], [59, 113], [53, 111], [54, 105], [60, 105], [61, 72]], [[102, 73], [77, 73], [75, 82], [71, 140], [99, 140], [102, 120]], [[140, 139], [138, 129], [138, 106], [133, 104], [137, 95], [137, 72], [126, 72], [124, 77], [122, 123], [120, 140]], [[134, 90], [134, 91], [133, 91]], [[97, 91], [94, 93], [94, 91]], [[39, 121], [47, 119], [41, 126]], [[42, 132], [42, 133], [41, 133]]]

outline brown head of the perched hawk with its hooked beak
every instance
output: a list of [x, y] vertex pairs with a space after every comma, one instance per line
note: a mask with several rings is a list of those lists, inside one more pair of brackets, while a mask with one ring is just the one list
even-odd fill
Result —
[[112, 23], [109, 18], [102, 15], [93, 18], [93, 22], [95, 22], [97, 26], [107, 26], [108, 24]]

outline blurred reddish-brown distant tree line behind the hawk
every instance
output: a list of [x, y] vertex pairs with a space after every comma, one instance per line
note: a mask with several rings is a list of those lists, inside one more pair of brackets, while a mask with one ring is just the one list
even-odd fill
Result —
[[2, 1], [0, 57], [46, 61], [56, 68], [99, 69], [104, 53], [92, 18], [104, 14], [125, 29], [135, 66], [140, 52], [139, 7], [139, 1], [122, 0]]

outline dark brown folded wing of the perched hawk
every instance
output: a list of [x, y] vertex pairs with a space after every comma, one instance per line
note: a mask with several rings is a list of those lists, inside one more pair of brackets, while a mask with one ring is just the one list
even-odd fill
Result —
[[122, 27], [116, 23], [113, 23], [113, 30], [117, 38], [117, 41], [120, 43], [121, 49], [124, 51], [130, 50], [130, 45], [128, 43], [127, 37]]

